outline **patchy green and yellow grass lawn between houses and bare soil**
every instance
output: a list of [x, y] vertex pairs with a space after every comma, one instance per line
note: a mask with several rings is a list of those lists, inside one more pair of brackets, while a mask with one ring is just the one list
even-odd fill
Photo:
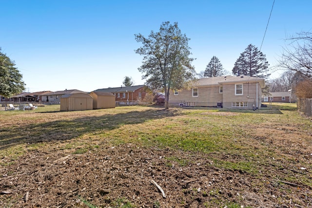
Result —
[[[83, 154], [120, 144], [202, 154], [210, 165], [312, 187], [312, 122], [296, 104], [268, 104], [261, 110], [128, 106], [60, 112], [59, 105], [33, 111], [0, 112], [0, 165], [10, 166], [31, 151]], [[193, 161], [166, 157], [185, 167]], [[289, 169], [297, 174], [276, 174]], [[261, 190], [266, 182], [254, 184]]]

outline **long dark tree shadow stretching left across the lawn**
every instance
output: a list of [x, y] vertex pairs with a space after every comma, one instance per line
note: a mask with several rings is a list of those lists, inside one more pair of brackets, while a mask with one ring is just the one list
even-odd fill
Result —
[[[45, 113], [54, 114], [62, 112], [53, 111]], [[178, 114], [180, 113], [155, 108], [146, 111], [83, 116], [75, 119], [65, 118], [51, 122], [28, 124], [26, 126], [14, 126], [0, 130], [0, 151], [19, 144], [66, 141], [91, 132], [114, 130], [123, 125], [139, 124], [147, 120], [161, 119]]]

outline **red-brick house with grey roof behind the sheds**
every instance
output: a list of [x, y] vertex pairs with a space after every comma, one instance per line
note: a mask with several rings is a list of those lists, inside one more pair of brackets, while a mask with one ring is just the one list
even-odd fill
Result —
[[98, 89], [93, 92], [112, 93], [115, 95], [116, 102], [121, 105], [137, 104], [137, 101], [144, 99], [145, 95], [147, 94], [145, 85], [105, 88]]

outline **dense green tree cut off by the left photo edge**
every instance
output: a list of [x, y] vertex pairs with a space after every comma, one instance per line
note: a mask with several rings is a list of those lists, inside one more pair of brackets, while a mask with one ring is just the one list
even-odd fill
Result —
[[25, 90], [20, 71], [15, 63], [1, 52], [0, 48], [0, 95], [11, 97]]

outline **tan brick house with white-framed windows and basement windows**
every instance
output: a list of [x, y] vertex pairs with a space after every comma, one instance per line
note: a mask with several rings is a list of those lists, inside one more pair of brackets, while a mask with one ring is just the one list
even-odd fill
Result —
[[265, 79], [253, 76], [217, 76], [193, 81], [191, 89], [173, 90], [170, 106], [205, 106], [227, 109], [261, 108]]

